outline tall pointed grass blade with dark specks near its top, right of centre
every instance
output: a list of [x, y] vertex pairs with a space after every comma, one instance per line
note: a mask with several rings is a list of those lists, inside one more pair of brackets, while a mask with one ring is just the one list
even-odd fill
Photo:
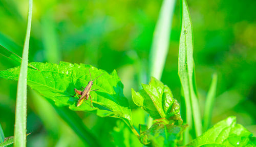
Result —
[[[180, 4], [182, 25], [179, 47], [178, 74], [184, 92], [184, 101], [186, 107], [185, 123], [190, 126], [190, 129], [193, 130], [196, 136], [199, 136], [202, 133], [202, 123], [197, 92], [194, 87], [196, 83], [193, 60], [193, 30], [186, 1], [181, 0]], [[192, 125], [193, 128], [191, 128]], [[187, 143], [188, 130], [185, 132], [185, 134], [185, 142]]]

